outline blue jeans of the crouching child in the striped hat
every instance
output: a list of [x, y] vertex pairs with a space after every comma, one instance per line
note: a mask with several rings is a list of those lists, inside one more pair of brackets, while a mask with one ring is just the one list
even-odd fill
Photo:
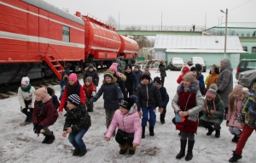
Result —
[[86, 146], [83, 141], [84, 134], [88, 131], [88, 128], [79, 129], [79, 131], [69, 133], [68, 140], [72, 143], [75, 149], [85, 150]]

